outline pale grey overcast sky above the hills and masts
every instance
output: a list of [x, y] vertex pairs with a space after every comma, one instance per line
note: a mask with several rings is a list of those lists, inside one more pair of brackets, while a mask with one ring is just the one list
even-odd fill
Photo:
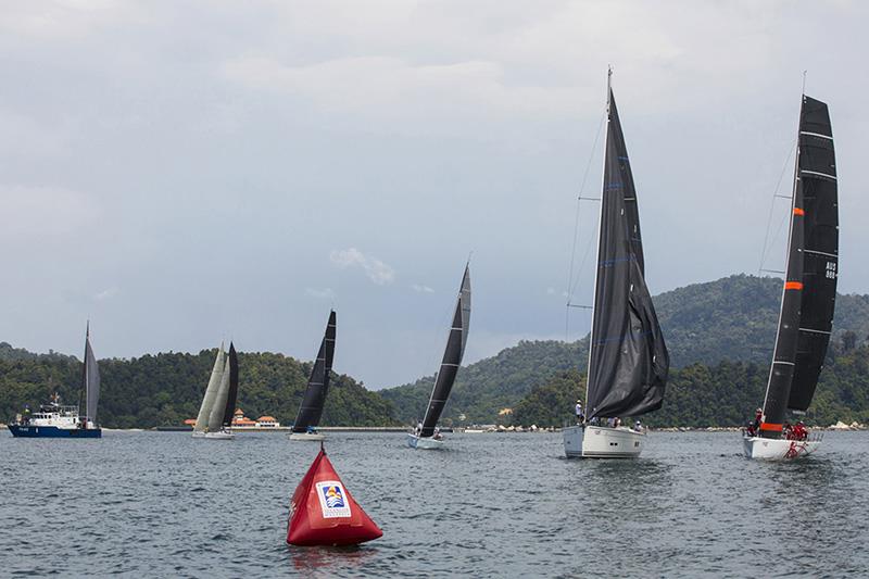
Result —
[[609, 63], [654, 293], [757, 272], [804, 70], [840, 290], [867, 292], [868, 24], [857, 1], [4, 1], [0, 340], [80, 357], [90, 318], [100, 357], [310, 360], [333, 305], [336, 369], [393, 386], [437, 369], [471, 251], [466, 362], [564, 339]]

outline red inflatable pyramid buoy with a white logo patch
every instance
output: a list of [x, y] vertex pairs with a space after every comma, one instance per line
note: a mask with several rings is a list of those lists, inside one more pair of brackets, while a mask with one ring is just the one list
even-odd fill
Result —
[[383, 531], [351, 496], [320, 448], [290, 503], [287, 542], [291, 545], [354, 545]]

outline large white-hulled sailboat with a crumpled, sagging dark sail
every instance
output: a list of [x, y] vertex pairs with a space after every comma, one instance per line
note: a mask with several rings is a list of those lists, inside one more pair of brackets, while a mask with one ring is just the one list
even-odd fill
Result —
[[670, 364], [645, 285], [637, 190], [613, 96], [612, 75], [610, 70], [585, 385], [588, 421], [563, 430], [568, 457], [639, 456], [645, 446], [646, 432], [639, 424], [633, 428], [618, 426], [617, 417], [640, 416], [659, 408]]

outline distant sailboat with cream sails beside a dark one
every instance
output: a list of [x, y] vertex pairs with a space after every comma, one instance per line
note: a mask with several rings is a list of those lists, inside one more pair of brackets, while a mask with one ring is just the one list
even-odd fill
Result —
[[193, 438], [229, 440], [235, 438], [230, 430], [232, 413], [238, 398], [238, 356], [232, 342], [229, 342], [229, 355], [224, 352], [224, 344], [217, 349], [217, 357], [211, 370], [209, 386], [199, 407], [197, 424], [193, 426]]

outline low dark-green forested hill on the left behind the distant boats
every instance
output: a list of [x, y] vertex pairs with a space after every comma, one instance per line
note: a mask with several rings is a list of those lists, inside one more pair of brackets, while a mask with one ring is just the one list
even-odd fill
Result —
[[[110, 428], [179, 425], [196, 418], [216, 350], [168, 353], [131, 360], [101, 360], [99, 421]], [[248, 417], [275, 416], [290, 425], [311, 373], [311, 363], [272, 353], [239, 353], [238, 406]], [[12, 418], [24, 404], [46, 402], [52, 391], [78, 403], [81, 363], [73, 357], [0, 358], [0, 419]], [[332, 375], [322, 424], [394, 425], [392, 404], [353, 378]]]

